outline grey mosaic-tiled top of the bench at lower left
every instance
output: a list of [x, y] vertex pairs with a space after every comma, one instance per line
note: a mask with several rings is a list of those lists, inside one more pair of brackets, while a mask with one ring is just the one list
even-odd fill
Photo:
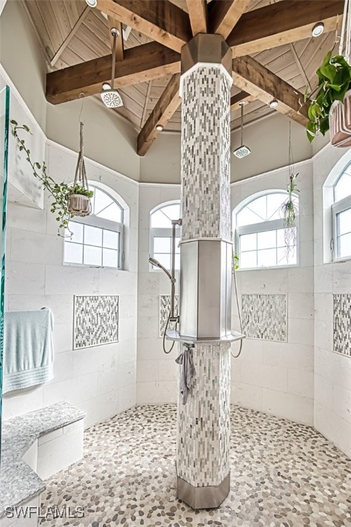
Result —
[[28, 449], [40, 436], [80, 421], [84, 416], [84, 412], [62, 401], [3, 422], [0, 518], [7, 507], [28, 501], [45, 490], [43, 480], [23, 460]]

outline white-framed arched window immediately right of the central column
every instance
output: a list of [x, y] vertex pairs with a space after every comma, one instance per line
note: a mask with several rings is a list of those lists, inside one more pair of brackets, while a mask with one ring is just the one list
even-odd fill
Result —
[[[239, 268], [291, 266], [297, 263], [296, 245], [287, 250], [282, 219], [285, 191], [269, 191], [245, 200], [233, 211], [235, 252]], [[298, 197], [293, 198], [298, 204]], [[296, 227], [295, 227], [296, 229]], [[295, 236], [296, 239], [296, 236]]]

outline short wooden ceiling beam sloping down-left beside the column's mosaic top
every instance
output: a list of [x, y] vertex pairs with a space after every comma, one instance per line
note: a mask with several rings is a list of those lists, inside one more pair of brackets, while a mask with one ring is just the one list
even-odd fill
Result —
[[180, 105], [179, 95], [180, 73], [172, 75], [171, 80], [165, 87], [160, 99], [156, 102], [154, 110], [150, 113], [145, 125], [138, 134], [137, 152], [139, 156], [145, 156], [152, 143], [160, 132], [156, 130], [156, 124], [161, 124], [164, 128], [171, 119], [175, 110]]

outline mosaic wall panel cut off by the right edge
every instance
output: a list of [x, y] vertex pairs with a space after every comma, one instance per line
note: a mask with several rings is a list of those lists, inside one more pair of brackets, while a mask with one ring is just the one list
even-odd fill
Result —
[[351, 294], [333, 294], [334, 351], [351, 357]]

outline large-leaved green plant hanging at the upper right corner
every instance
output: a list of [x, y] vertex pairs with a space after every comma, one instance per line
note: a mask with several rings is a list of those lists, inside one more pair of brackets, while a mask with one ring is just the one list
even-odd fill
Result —
[[[330, 107], [334, 101], [343, 102], [351, 84], [351, 66], [343, 56], [332, 56], [332, 51], [328, 51], [316, 74], [318, 86], [314, 96], [311, 97], [310, 95], [309, 97], [311, 104], [308, 107], [309, 122], [306, 126], [310, 143], [317, 132], [321, 132], [323, 135], [328, 132]], [[308, 86], [306, 86], [305, 102], [308, 99], [307, 89]]]

